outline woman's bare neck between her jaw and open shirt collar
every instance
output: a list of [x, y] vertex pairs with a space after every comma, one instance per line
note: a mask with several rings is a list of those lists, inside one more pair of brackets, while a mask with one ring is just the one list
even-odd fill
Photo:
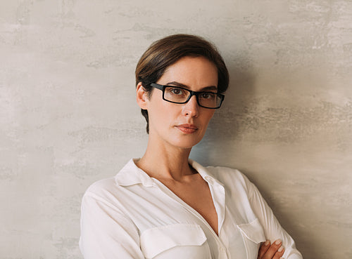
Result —
[[149, 135], [144, 156], [137, 161], [137, 166], [149, 176], [160, 179], [182, 181], [187, 175], [192, 175], [188, 164], [191, 148], [180, 148], [153, 141]]

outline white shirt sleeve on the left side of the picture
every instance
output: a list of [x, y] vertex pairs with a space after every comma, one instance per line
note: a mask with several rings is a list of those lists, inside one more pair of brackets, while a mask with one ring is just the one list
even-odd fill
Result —
[[132, 220], [92, 192], [82, 199], [80, 250], [84, 259], [144, 259]]

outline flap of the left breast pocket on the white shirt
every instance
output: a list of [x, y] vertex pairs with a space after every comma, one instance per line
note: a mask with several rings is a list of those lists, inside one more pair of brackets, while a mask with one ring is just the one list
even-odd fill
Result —
[[146, 258], [175, 246], [201, 246], [206, 235], [199, 225], [173, 224], [154, 227], [141, 234], [141, 249]]

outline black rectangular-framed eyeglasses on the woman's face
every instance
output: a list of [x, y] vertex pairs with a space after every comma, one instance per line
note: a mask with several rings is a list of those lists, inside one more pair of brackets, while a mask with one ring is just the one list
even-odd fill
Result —
[[173, 103], [186, 103], [192, 95], [196, 95], [199, 106], [208, 109], [218, 109], [221, 106], [225, 95], [213, 92], [195, 92], [178, 86], [163, 86], [161, 84], [151, 84], [152, 87], [163, 91], [163, 100]]

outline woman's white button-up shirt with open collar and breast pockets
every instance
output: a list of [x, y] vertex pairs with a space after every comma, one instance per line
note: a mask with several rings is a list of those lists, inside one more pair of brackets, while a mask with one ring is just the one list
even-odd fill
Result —
[[85, 259], [256, 259], [260, 242], [282, 239], [283, 258], [302, 259], [257, 188], [225, 167], [189, 164], [208, 182], [218, 213], [206, 220], [131, 159], [82, 199], [80, 249]]

